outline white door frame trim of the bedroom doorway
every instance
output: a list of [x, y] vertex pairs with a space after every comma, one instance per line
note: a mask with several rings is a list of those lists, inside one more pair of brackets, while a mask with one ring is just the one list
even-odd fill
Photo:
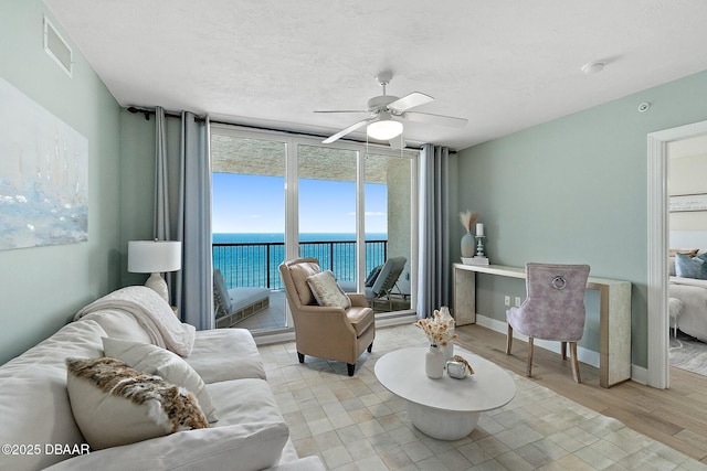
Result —
[[707, 121], [651, 132], [648, 158], [648, 367], [646, 384], [669, 386], [668, 363], [668, 143], [707, 135]]

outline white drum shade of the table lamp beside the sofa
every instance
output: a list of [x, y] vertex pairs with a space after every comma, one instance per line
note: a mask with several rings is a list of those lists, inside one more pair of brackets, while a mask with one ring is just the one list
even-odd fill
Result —
[[161, 274], [176, 271], [180, 268], [181, 242], [128, 242], [128, 271], [135, 274]]

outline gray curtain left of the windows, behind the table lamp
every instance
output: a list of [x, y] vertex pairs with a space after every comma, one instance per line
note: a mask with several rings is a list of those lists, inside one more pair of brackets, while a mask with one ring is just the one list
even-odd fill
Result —
[[[170, 288], [175, 306], [183, 322], [197, 330], [214, 328], [213, 278], [211, 258], [211, 159], [209, 119], [197, 119], [192, 113], [181, 114], [178, 156], [168, 156], [165, 113], [157, 109], [157, 156], [155, 176], [155, 236], [170, 238], [170, 192], [177, 207], [176, 237], [182, 243], [181, 270], [175, 274]], [[161, 118], [160, 118], [161, 116]], [[168, 164], [177, 165], [176, 182], [168, 179]], [[175, 201], [176, 199], [176, 201]]]

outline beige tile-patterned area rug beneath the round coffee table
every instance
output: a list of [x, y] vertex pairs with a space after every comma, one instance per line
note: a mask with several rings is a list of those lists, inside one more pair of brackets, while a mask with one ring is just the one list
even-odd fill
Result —
[[707, 469], [513, 372], [515, 398], [483, 413], [472, 433], [456, 441], [426, 437], [373, 373], [383, 354], [424, 345], [412, 325], [379, 329], [352, 377], [338, 362], [299, 364], [294, 343], [258, 346], [299, 456], [318, 454], [329, 470]]

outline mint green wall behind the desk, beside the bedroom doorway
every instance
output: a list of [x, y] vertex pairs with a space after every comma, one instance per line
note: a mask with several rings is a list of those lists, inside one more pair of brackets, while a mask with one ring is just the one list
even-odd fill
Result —
[[[642, 101], [652, 104], [648, 111], [639, 113]], [[479, 213], [492, 263], [587, 263], [592, 276], [631, 281], [632, 363], [643, 367], [646, 135], [707, 119], [705, 103], [701, 72], [460, 152], [458, 207]], [[461, 224], [457, 229], [451, 244], [458, 260]], [[479, 276], [477, 312], [505, 321], [504, 295], [525, 297], [524, 282]], [[598, 309], [589, 296], [582, 345], [594, 351]]]

